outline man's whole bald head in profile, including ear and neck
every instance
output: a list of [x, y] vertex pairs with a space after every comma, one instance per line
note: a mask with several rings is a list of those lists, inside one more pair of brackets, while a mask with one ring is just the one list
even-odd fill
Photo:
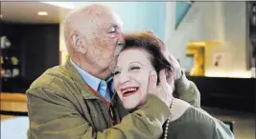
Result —
[[[70, 58], [84, 70], [99, 69], [92, 75], [110, 75], [114, 54], [124, 45], [122, 21], [110, 8], [92, 4], [72, 11], [64, 23], [64, 37]], [[91, 69], [88, 69], [90, 68]], [[98, 75], [103, 74], [105, 75]]]

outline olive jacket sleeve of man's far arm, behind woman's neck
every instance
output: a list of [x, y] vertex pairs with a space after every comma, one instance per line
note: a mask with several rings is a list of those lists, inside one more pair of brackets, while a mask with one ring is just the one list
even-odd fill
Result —
[[175, 81], [175, 91], [179, 99], [200, 108], [200, 92], [195, 83], [189, 81], [182, 71], [182, 76]]

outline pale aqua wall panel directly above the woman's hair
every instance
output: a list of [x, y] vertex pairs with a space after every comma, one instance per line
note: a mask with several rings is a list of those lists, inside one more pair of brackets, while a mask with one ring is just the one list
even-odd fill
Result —
[[124, 22], [124, 30], [152, 30], [165, 39], [166, 2], [110, 2]]

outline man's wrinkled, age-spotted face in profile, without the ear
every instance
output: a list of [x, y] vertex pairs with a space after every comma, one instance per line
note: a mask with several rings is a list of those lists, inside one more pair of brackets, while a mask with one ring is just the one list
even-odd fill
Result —
[[125, 43], [123, 23], [115, 12], [109, 10], [103, 14], [93, 15], [89, 24], [90, 28], [84, 30], [84, 33], [88, 34], [84, 39], [88, 45], [87, 57], [91, 59], [91, 64], [110, 74], [109, 66], [114, 55], [119, 53]]

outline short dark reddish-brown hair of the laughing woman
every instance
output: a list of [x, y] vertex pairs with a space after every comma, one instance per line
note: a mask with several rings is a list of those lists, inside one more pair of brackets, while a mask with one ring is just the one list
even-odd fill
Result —
[[[151, 65], [157, 75], [161, 69], [167, 69], [168, 73], [174, 74], [174, 66], [164, 55], [166, 47], [164, 43], [151, 32], [137, 32], [126, 36], [126, 45], [123, 50], [143, 49], [151, 55]], [[159, 78], [157, 79], [157, 84]]]

